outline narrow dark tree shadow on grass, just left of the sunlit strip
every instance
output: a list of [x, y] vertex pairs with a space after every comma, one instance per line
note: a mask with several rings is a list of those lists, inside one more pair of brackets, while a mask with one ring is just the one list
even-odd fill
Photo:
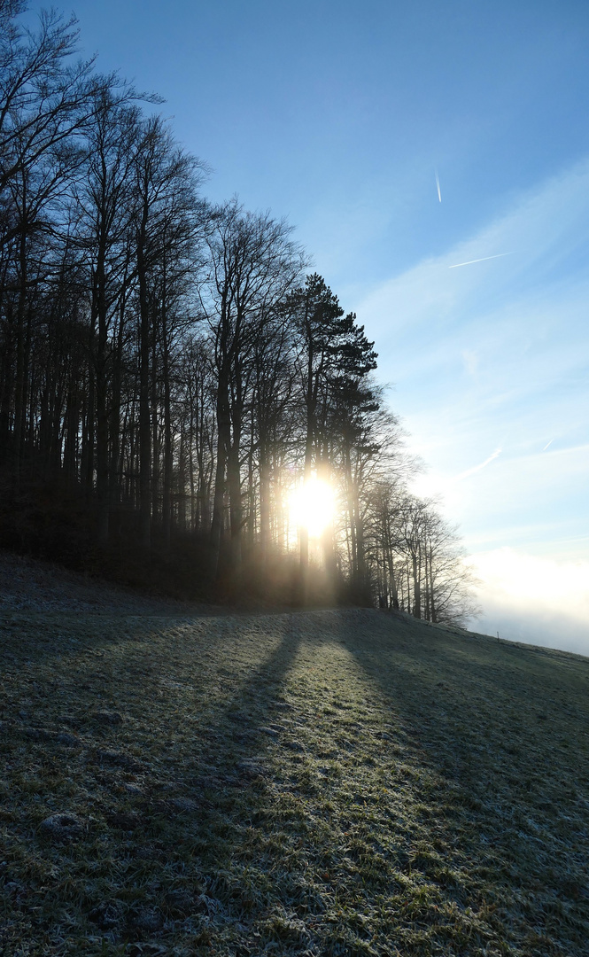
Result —
[[[282, 730], [294, 710], [284, 688], [301, 638], [292, 627], [292, 615], [265, 620], [273, 651], [249, 669], [218, 707], [208, 710], [192, 746], [185, 745], [189, 764], [186, 761], [183, 767], [177, 759], [171, 769], [175, 784], [188, 801], [183, 807], [182, 798], [172, 798], [167, 809], [165, 801], [156, 802], [156, 820], [152, 818], [146, 835], [148, 844], [156, 838], [168, 873], [182, 873], [191, 890], [206, 892], [198, 906], [210, 927], [211, 940], [224, 924], [248, 924], [253, 911], [259, 917], [260, 908], [263, 911], [266, 906], [265, 895], [273, 897], [270, 878], [265, 886], [260, 885], [260, 868], [270, 868], [270, 861], [265, 863], [264, 854], [256, 852], [252, 835], [257, 833], [273, 787], [270, 763], [278, 746], [277, 722]], [[236, 641], [247, 643], [250, 625], [247, 617], [236, 620]], [[215, 654], [215, 673], [219, 674], [224, 662], [222, 643], [217, 643]], [[259, 659], [258, 639], [252, 642], [252, 655]], [[239, 670], [239, 664], [230, 658], [227, 667]], [[249, 877], [250, 868], [255, 879]], [[265, 884], [264, 878], [261, 884]], [[206, 944], [208, 933], [203, 931], [198, 940]], [[229, 937], [231, 934], [229, 930]]]

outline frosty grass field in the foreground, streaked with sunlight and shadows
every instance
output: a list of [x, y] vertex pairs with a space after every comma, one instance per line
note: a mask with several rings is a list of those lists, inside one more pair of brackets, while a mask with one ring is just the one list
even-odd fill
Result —
[[0, 953], [589, 954], [589, 659], [2, 615]]

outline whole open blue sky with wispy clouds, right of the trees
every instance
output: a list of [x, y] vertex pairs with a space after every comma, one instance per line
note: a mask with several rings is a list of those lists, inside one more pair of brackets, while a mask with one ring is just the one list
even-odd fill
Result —
[[358, 312], [478, 627], [589, 654], [586, 0], [74, 9], [101, 69], [164, 96], [207, 194], [287, 215]]

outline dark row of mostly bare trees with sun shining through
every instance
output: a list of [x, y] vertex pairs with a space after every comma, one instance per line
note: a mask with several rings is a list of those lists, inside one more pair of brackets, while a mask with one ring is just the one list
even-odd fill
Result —
[[[21, 12], [0, 0], [4, 544], [202, 594], [468, 613], [374, 344], [291, 227], [208, 203], [157, 98], [75, 61], [75, 22]], [[314, 537], [289, 502], [317, 476], [336, 508]]]

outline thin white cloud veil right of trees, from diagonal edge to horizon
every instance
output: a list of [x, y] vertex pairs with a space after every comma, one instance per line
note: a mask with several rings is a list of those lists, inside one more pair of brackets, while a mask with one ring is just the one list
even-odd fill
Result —
[[[534, 561], [549, 563], [542, 568], [559, 582], [571, 563], [589, 568], [587, 222], [589, 161], [358, 304], [413, 451], [429, 465], [416, 491], [444, 499], [487, 570], [484, 556], [512, 549], [506, 568], [516, 595], [488, 575], [485, 620], [509, 617], [513, 637], [539, 640], [535, 629], [546, 644], [561, 640], [551, 629], [570, 596], [545, 590], [540, 609]], [[469, 268], [448, 268], [459, 263]], [[589, 651], [579, 637], [589, 632], [589, 604], [575, 608], [562, 640]]]

